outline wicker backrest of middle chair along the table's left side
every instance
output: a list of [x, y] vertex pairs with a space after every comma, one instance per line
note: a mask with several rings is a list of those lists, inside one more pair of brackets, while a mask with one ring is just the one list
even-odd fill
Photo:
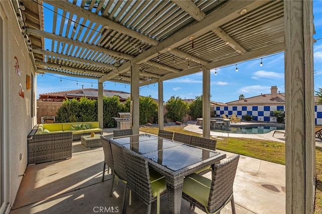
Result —
[[[112, 157], [113, 157], [113, 164], [114, 164], [114, 173], [121, 179], [127, 180], [127, 173], [125, 169], [125, 165], [128, 161], [123, 156], [123, 147], [115, 143], [114, 141], [111, 142], [111, 150], [112, 150]], [[126, 161], [126, 164], [125, 164]]]

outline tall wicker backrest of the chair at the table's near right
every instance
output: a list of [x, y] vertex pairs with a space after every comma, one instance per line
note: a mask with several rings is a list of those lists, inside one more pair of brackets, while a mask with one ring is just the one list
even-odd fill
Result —
[[232, 196], [239, 155], [214, 166], [208, 200], [208, 211], [214, 212]]

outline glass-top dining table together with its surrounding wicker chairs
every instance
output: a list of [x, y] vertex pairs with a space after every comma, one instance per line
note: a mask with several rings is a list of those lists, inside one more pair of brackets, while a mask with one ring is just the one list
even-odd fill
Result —
[[[123, 213], [131, 203], [131, 191], [147, 204], [147, 213], [154, 200], [159, 213], [159, 200], [165, 193], [170, 213], [180, 213], [182, 198], [192, 209], [197, 206], [206, 212], [219, 211], [231, 202], [235, 212], [232, 186], [239, 155], [220, 163], [226, 155], [215, 151], [215, 140], [164, 130], [158, 136], [133, 135], [130, 129], [101, 139], [105, 157], [102, 181], [107, 165], [112, 170], [110, 196], [115, 176], [125, 183]], [[202, 176], [209, 170], [212, 179]], [[209, 197], [202, 196], [205, 194]]]

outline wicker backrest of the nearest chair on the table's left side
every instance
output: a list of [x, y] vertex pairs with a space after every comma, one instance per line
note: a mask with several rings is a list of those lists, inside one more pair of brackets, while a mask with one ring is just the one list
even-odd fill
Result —
[[147, 160], [141, 155], [124, 150], [126, 159], [127, 187], [136, 193], [143, 201], [151, 201], [151, 184]]

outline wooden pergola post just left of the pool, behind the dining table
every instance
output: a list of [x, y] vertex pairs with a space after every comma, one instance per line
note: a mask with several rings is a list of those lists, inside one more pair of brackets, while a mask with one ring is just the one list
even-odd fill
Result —
[[202, 136], [210, 138], [210, 70], [202, 74]]

